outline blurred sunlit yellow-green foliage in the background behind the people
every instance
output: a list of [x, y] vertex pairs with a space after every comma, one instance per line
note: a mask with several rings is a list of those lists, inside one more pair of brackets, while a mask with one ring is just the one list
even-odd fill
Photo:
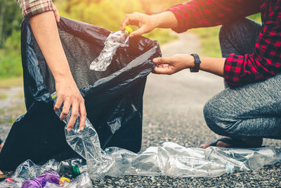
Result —
[[[188, 0], [56, 0], [53, 1], [60, 15], [74, 20], [117, 31], [127, 13], [159, 13], [174, 4]], [[252, 15], [260, 22], [260, 15]], [[20, 22], [22, 15], [15, 0], [0, 0], [0, 79], [22, 75], [20, 58]], [[136, 28], [136, 27], [135, 27]], [[201, 39], [202, 55], [220, 56], [219, 27], [191, 30]], [[176, 39], [170, 30], [154, 30], [145, 37], [160, 44]]]

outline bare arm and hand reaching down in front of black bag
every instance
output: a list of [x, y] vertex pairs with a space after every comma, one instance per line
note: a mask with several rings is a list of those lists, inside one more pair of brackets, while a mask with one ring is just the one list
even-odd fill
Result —
[[72, 115], [67, 125], [67, 130], [71, 130], [78, 113], [80, 113], [80, 129], [82, 130], [86, 120], [84, 99], [70, 72], [70, 67], [58, 35], [58, 27], [53, 11], [34, 15], [30, 18], [30, 25], [48, 67], [55, 78], [55, 89], [58, 99], [54, 110], [57, 111], [63, 104], [63, 112], [60, 115], [60, 120], [63, 120], [67, 117], [70, 107], [72, 108]]

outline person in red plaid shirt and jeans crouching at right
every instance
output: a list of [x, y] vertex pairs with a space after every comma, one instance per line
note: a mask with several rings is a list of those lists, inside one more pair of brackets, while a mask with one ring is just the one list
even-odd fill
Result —
[[[245, 18], [258, 12], [262, 25]], [[202, 148], [259, 147], [263, 138], [281, 139], [281, 0], [192, 0], [155, 15], [126, 15], [122, 30], [125, 25], [139, 27], [130, 37], [156, 27], [185, 32], [222, 25], [223, 58], [155, 58], [155, 73], [171, 75], [189, 68], [224, 77], [228, 87], [204, 106], [207, 125], [224, 137]]]

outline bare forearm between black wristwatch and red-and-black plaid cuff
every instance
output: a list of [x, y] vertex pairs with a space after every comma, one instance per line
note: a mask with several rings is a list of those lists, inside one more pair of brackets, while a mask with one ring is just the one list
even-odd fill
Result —
[[223, 77], [226, 58], [200, 57], [200, 70]]

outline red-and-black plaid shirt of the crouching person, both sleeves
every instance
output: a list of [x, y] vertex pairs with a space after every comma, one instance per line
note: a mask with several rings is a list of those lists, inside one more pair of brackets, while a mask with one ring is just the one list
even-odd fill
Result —
[[192, 0], [169, 8], [178, 19], [176, 32], [231, 22], [261, 11], [263, 21], [252, 54], [230, 54], [224, 77], [230, 87], [265, 80], [281, 72], [281, 0]]

